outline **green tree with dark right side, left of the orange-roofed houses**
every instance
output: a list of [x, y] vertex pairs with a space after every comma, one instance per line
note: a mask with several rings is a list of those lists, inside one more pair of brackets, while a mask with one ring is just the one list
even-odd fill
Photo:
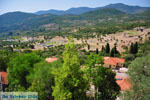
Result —
[[103, 57], [91, 54], [86, 63], [86, 75], [89, 83], [95, 86], [95, 100], [115, 100], [120, 87], [116, 83], [115, 73], [102, 67]]

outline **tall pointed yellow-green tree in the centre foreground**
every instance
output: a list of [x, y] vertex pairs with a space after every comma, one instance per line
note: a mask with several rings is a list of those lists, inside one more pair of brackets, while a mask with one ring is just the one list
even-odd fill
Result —
[[65, 45], [63, 52], [63, 66], [54, 71], [55, 86], [53, 96], [55, 100], [86, 100], [87, 81], [80, 69], [78, 53], [72, 39]]

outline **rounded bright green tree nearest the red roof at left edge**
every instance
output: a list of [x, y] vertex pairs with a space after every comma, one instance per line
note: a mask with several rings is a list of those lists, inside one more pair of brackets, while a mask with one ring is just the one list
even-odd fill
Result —
[[32, 72], [34, 64], [41, 61], [35, 53], [18, 54], [8, 64], [10, 91], [24, 91], [31, 84], [27, 82], [27, 76]]

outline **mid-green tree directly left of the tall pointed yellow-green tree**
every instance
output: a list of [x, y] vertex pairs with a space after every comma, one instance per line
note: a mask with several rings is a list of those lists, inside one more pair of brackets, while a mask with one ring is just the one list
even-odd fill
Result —
[[52, 71], [62, 66], [61, 61], [53, 63], [39, 62], [34, 65], [33, 72], [27, 77], [31, 86], [28, 91], [38, 92], [39, 100], [53, 99], [52, 86], [54, 86], [54, 76]]

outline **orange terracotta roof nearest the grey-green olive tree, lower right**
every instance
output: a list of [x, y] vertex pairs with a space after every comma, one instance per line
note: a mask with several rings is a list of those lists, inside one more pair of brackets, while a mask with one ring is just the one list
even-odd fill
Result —
[[120, 76], [116, 76], [115, 78], [116, 78], [117, 84], [121, 88], [121, 91], [126, 91], [126, 90], [129, 90], [131, 88], [131, 83], [130, 83], [129, 78], [120, 77]]

